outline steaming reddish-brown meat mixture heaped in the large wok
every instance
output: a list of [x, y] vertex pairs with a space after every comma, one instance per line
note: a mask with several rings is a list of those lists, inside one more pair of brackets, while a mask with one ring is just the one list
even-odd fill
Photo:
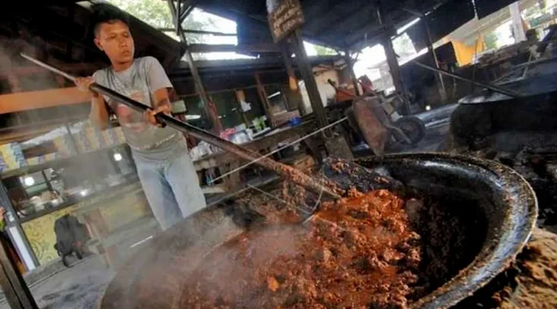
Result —
[[408, 308], [419, 236], [405, 202], [351, 192], [305, 225], [268, 226], [214, 249], [180, 308]]

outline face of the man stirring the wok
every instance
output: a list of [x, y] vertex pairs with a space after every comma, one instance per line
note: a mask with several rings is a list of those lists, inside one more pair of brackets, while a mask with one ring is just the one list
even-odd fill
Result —
[[120, 20], [100, 24], [95, 44], [112, 62], [124, 63], [134, 59], [134, 38], [130, 28]]

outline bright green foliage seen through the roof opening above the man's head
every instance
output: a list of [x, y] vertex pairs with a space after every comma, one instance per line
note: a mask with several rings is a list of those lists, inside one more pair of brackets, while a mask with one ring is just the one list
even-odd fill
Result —
[[[109, 0], [114, 6], [141, 19], [154, 28], [175, 28], [168, 3], [162, 0]], [[200, 20], [195, 18], [195, 11], [185, 19], [182, 28], [191, 30], [205, 30], [207, 26], [214, 24], [210, 17]], [[167, 33], [178, 40], [175, 33]], [[205, 35], [187, 33], [188, 42], [201, 43], [206, 41]]]

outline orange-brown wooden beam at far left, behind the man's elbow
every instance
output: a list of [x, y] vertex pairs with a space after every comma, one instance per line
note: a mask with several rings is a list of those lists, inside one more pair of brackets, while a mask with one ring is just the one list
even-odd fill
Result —
[[17, 92], [0, 95], [0, 115], [37, 108], [49, 108], [91, 101], [91, 96], [77, 87]]

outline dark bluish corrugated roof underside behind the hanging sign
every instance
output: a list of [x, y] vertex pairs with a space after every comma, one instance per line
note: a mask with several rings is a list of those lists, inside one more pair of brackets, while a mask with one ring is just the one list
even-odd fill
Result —
[[[183, 0], [182, 0], [183, 1]], [[302, 27], [304, 39], [337, 50], [357, 51], [376, 44], [384, 35], [393, 35], [400, 28], [416, 19], [411, 12], [427, 14], [434, 39], [454, 31], [476, 15], [483, 17], [508, 6], [515, 0], [299, 0], [304, 12]], [[188, 2], [191, 3], [191, 0]], [[238, 23], [238, 42], [253, 42], [254, 33], [267, 36], [267, 6], [264, 0], [203, 0], [194, 1], [196, 6]], [[464, 3], [466, 2], [466, 3]], [[381, 7], [383, 23], [377, 18]], [[407, 9], [407, 10], [403, 10]], [[471, 13], [469, 12], [471, 8]], [[466, 12], [462, 12], [465, 10]], [[462, 16], [461, 16], [462, 15]], [[439, 22], [441, 20], [441, 22]], [[245, 38], [242, 38], [245, 24]], [[422, 25], [414, 26], [414, 32], [423, 32]], [[423, 37], [414, 37], [423, 41]], [[260, 36], [257, 37], [260, 40]], [[423, 44], [423, 42], [420, 42]]]

